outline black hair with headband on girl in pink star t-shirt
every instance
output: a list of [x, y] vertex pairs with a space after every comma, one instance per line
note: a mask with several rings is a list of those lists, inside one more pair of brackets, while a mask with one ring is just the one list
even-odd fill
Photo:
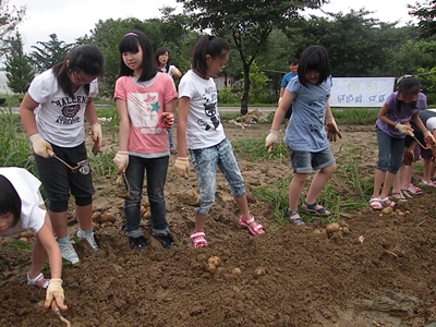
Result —
[[118, 50], [120, 52], [120, 76], [133, 75], [133, 70], [125, 65], [122, 53], [137, 53], [140, 51], [140, 47], [143, 50], [143, 72], [137, 81], [146, 82], [155, 77], [157, 74], [157, 68], [154, 58], [155, 51], [153, 51], [152, 43], [145, 33], [138, 29], [132, 29], [125, 33], [118, 44]]

